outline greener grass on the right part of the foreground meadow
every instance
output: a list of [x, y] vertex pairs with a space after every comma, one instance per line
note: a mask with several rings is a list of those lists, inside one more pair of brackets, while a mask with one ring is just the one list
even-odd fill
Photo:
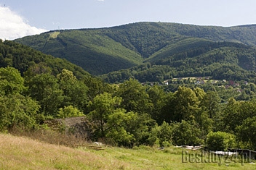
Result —
[[[119, 161], [125, 161], [132, 166], [140, 169], [255, 169], [256, 165], [244, 163], [182, 163], [182, 149], [167, 148], [159, 150], [158, 148], [139, 147], [134, 149], [127, 148], [106, 148], [100, 153], [107, 158], [115, 158]], [[189, 151], [193, 153], [195, 151]], [[198, 152], [198, 151], [197, 151]]]

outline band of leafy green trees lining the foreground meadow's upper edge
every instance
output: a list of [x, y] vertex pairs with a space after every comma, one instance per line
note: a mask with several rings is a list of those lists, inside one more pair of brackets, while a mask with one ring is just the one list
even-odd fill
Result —
[[2, 67], [0, 79], [1, 132], [13, 127], [37, 129], [45, 119], [86, 116], [94, 140], [117, 145], [256, 149], [255, 100], [230, 98], [220, 103], [212, 90], [180, 86], [175, 93], [166, 93], [158, 85], [143, 86], [135, 79], [108, 88], [99, 85], [92, 94], [87, 82], [77, 80], [68, 69], [55, 76], [40, 64], [23, 77], [13, 67]]

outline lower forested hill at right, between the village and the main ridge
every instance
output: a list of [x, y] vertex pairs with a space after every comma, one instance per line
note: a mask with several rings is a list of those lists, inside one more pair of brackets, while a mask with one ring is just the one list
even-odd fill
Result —
[[163, 82], [174, 77], [205, 76], [215, 80], [249, 81], [256, 76], [255, 47], [195, 38], [177, 43], [156, 52], [144, 64], [101, 77], [107, 82], [121, 82], [129, 77], [140, 82]]

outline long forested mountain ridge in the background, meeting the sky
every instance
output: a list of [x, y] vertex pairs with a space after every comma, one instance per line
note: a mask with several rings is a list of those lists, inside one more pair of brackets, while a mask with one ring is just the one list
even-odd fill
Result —
[[[57, 31], [60, 33], [56, 38], [51, 38]], [[152, 64], [193, 48], [203, 50], [205, 43], [232, 42], [232, 46], [244, 44], [251, 48], [256, 46], [256, 25], [220, 27], [136, 22], [114, 27], [54, 30], [15, 41], [65, 58], [92, 75], [105, 75], [145, 62]], [[250, 67], [255, 67], [252, 64]]]

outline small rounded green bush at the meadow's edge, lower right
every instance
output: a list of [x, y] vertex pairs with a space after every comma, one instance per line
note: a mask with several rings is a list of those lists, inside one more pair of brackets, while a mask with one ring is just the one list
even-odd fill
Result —
[[235, 145], [235, 136], [226, 132], [210, 132], [207, 135], [207, 147], [209, 150], [228, 150]]

